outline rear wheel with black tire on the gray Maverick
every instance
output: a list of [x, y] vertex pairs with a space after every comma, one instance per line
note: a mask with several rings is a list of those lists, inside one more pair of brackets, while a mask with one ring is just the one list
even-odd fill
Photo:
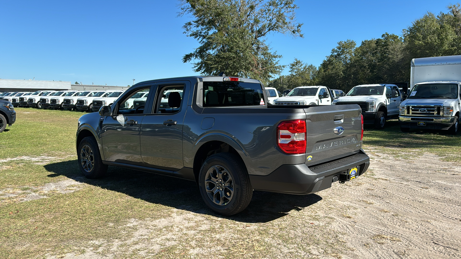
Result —
[[247, 169], [232, 153], [217, 153], [203, 162], [199, 189], [205, 204], [223, 216], [243, 211], [253, 196]]

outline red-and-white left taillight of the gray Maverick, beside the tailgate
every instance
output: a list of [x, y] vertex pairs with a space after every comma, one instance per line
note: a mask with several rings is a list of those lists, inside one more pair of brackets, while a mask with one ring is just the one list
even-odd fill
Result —
[[306, 121], [283, 121], [277, 126], [277, 146], [287, 154], [306, 153]]

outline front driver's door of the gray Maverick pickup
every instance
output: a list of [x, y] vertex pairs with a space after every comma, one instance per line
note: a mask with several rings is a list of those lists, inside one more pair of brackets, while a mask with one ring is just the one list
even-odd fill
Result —
[[[151, 86], [137, 87], [113, 104], [112, 116], [102, 121], [102, 145], [106, 161], [142, 165], [140, 133], [144, 107], [125, 108], [125, 102], [135, 94], [148, 92]], [[115, 106], [115, 107], [114, 107]]]

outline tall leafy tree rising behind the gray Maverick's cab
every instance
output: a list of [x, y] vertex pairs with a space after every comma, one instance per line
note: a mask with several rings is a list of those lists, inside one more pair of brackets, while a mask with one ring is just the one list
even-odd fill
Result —
[[200, 46], [183, 56], [195, 72], [250, 77], [267, 82], [283, 69], [282, 57], [266, 43], [269, 34], [300, 36], [294, 0], [182, 0], [179, 16], [190, 14], [184, 34]]

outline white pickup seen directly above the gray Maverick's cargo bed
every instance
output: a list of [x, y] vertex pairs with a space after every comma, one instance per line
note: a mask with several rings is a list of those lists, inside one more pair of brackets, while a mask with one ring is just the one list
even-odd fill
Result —
[[332, 100], [326, 86], [300, 86], [275, 99], [274, 105], [331, 105]]

